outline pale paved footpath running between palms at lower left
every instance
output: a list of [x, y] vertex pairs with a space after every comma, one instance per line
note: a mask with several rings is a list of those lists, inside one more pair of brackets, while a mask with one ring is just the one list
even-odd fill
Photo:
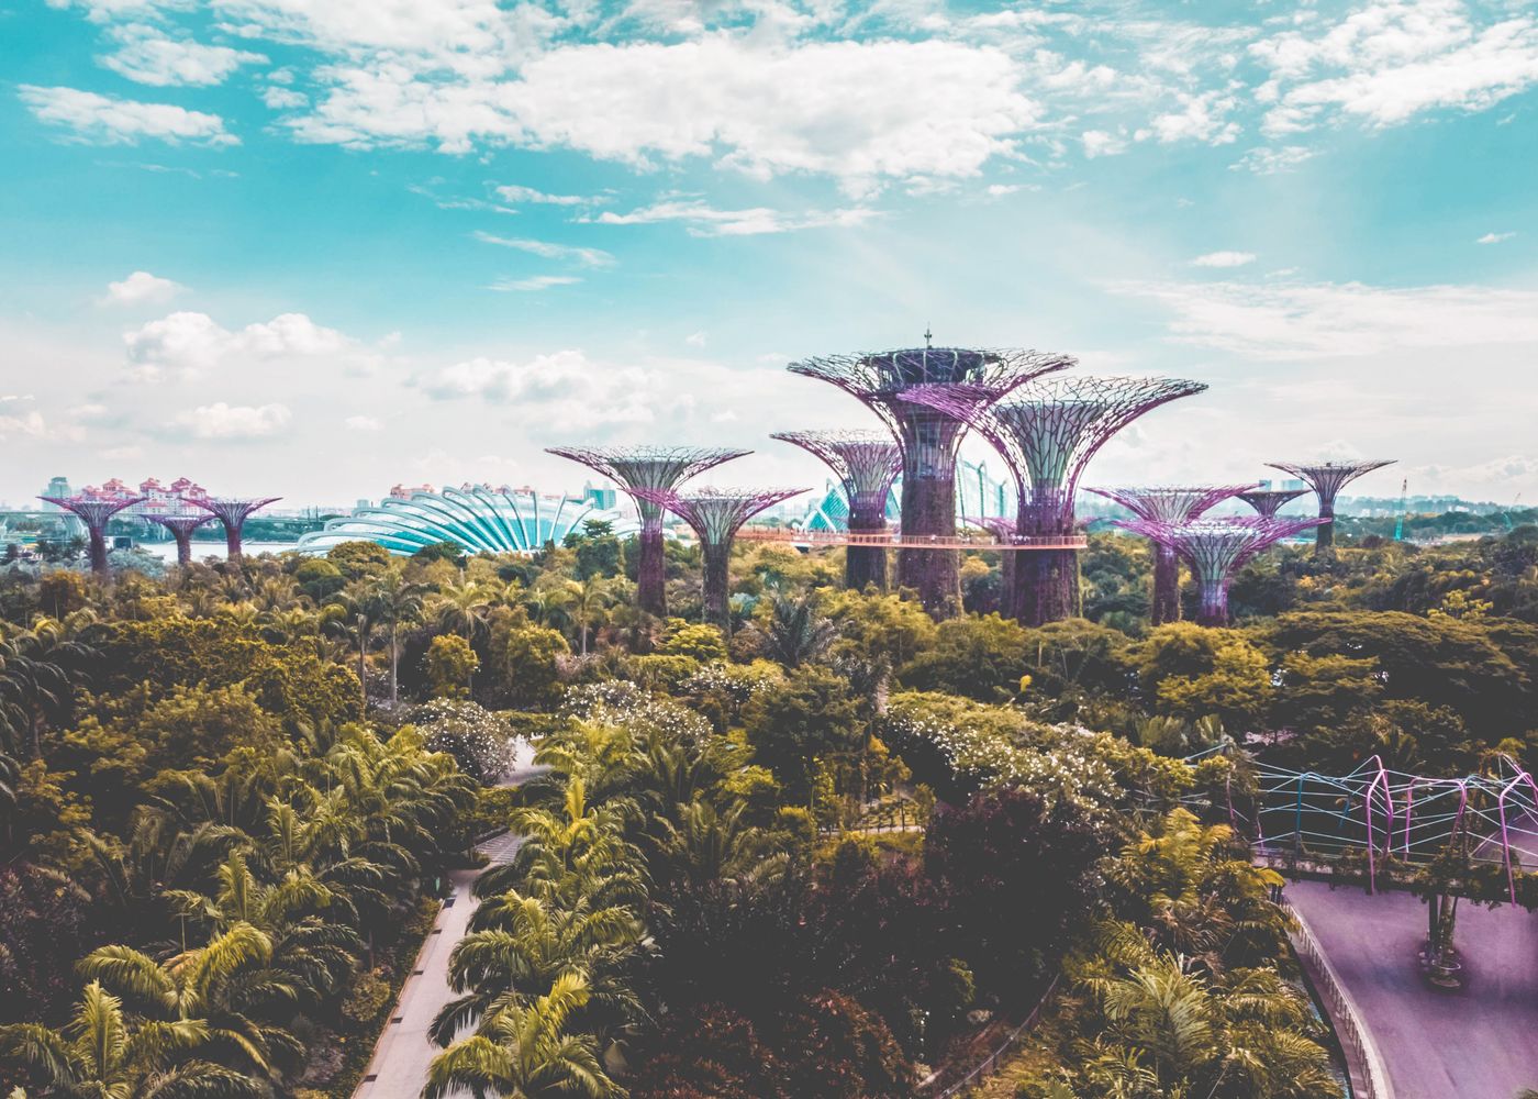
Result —
[[[548, 770], [534, 767], [532, 751], [520, 750], [514, 770], [500, 785], [517, 787]], [[449, 954], [464, 937], [475, 911], [471, 887], [488, 868], [511, 860], [521, 843], [521, 836], [504, 833], [480, 845], [489, 859], [484, 868], [449, 871], [454, 893], [443, 902], [438, 919], [428, 933], [428, 942], [417, 956], [412, 974], [406, 977], [400, 1000], [384, 1025], [354, 1099], [417, 1099], [421, 1094], [428, 1082], [428, 1065], [441, 1051], [428, 1037], [428, 1030], [443, 1005], [455, 997], [455, 991], [449, 988]]]

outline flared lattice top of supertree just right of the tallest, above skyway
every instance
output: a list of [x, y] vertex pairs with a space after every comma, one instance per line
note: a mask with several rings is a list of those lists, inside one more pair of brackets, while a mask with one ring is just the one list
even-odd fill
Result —
[[1044, 534], [1072, 529], [1078, 479], [1106, 440], [1144, 413], [1206, 388], [1184, 379], [1067, 374], [1038, 379], [995, 403], [980, 402], [969, 386], [921, 386], [907, 399], [987, 439], [1015, 477], [1021, 520]]

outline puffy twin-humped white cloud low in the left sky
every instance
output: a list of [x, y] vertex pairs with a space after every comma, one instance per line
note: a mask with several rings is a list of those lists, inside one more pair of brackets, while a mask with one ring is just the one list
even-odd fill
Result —
[[285, 312], [266, 323], [229, 331], [206, 312], [172, 312], [123, 334], [134, 376], [158, 382], [169, 376], [197, 377], [234, 360], [337, 359], [368, 366], [375, 356], [334, 328], [303, 312]]

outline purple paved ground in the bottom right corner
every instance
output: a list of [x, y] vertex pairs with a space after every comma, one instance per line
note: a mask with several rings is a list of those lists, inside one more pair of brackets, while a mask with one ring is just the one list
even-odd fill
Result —
[[1361, 1010], [1393, 1099], [1515, 1099], [1538, 1088], [1538, 914], [1460, 904], [1470, 979], [1440, 993], [1415, 960], [1426, 937], [1416, 897], [1293, 882], [1287, 899]]

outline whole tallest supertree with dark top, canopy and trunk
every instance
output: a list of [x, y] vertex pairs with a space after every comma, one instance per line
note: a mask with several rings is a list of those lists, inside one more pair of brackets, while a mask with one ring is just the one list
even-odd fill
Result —
[[[1070, 356], [1040, 351], [924, 346], [806, 359], [791, 363], [791, 372], [837, 385], [881, 417], [903, 453], [903, 539], [917, 540], [955, 536], [957, 449], [966, 426], [946, 409], [907, 400], [907, 394], [918, 386], [964, 386], [975, 394], [967, 403], [983, 405], [1074, 363]], [[917, 588], [930, 614], [960, 611], [955, 551], [903, 550], [897, 571], [898, 583]]]

